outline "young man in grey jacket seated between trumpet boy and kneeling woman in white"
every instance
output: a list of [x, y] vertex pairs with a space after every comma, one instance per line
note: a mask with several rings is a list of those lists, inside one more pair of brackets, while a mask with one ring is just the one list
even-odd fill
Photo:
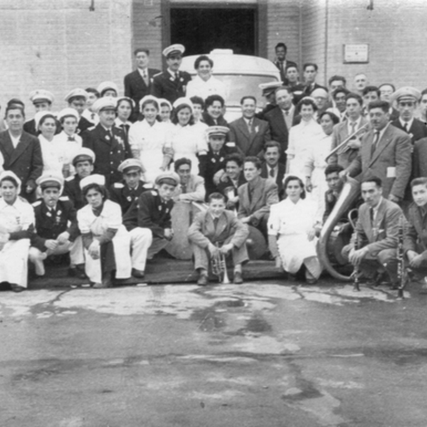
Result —
[[238, 188], [238, 218], [258, 228], [266, 237], [270, 206], [279, 201], [278, 186], [273, 179], [260, 177], [261, 162], [258, 157], [246, 157], [243, 173], [248, 182]]

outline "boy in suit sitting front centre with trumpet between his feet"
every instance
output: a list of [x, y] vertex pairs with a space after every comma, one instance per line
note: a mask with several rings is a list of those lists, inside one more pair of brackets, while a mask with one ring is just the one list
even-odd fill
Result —
[[226, 211], [226, 198], [223, 194], [212, 193], [209, 209], [199, 212], [189, 229], [189, 240], [194, 253], [194, 268], [199, 271], [198, 285], [207, 285], [209, 256], [216, 259], [220, 255], [232, 253], [234, 274], [233, 283], [243, 283], [242, 264], [248, 261], [246, 238], [248, 228], [238, 221], [230, 211]]

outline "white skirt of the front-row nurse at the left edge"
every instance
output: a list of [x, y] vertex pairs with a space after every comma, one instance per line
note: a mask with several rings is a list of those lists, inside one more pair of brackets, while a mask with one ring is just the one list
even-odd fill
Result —
[[0, 283], [28, 286], [28, 250], [30, 239], [7, 242], [0, 251]]

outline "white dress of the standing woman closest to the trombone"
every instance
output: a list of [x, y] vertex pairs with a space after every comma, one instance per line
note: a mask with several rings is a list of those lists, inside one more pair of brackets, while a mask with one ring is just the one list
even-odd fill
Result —
[[322, 221], [323, 212], [325, 211], [325, 193], [328, 189], [325, 169], [327, 162], [325, 157], [331, 151], [332, 135], [325, 135], [325, 133], [317, 139], [307, 150], [307, 157], [304, 165], [304, 175], [311, 176], [313, 189], [311, 191], [311, 199], [317, 204], [316, 218]]

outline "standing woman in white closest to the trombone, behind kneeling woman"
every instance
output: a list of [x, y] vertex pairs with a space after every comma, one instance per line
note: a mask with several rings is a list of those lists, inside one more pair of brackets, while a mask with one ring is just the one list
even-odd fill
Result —
[[339, 118], [333, 112], [325, 111], [320, 115], [319, 120], [323, 134], [307, 150], [304, 175], [305, 189], [312, 194], [312, 200], [317, 204], [317, 218], [322, 221], [325, 211], [325, 193], [328, 189], [325, 176], [327, 167], [325, 158], [331, 151], [332, 130], [334, 130], [334, 125], [339, 123]]

